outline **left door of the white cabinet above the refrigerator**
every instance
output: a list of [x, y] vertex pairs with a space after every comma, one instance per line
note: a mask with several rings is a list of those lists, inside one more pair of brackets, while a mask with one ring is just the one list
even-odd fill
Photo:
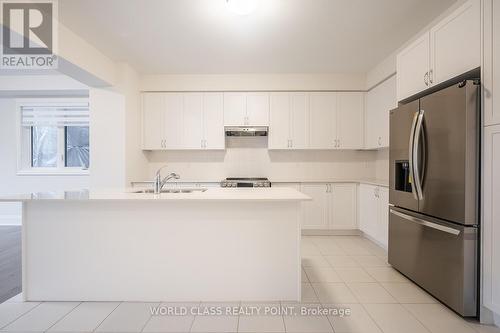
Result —
[[429, 58], [428, 32], [397, 55], [398, 101], [428, 88], [425, 76], [430, 68]]

